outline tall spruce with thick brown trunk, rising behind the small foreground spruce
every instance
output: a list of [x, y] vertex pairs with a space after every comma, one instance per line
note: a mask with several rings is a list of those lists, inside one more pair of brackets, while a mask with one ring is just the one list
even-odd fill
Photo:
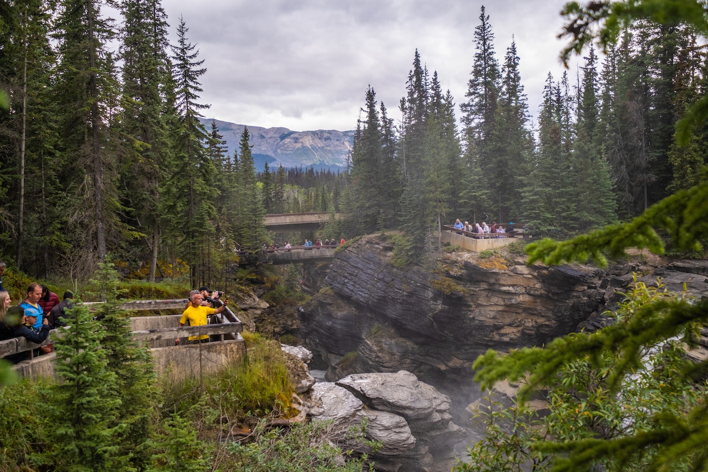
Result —
[[[62, 0], [56, 22], [59, 61], [54, 96], [59, 106], [59, 152], [65, 184], [79, 189], [72, 208], [84, 216], [72, 226], [72, 243], [105, 260], [109, 244], [122, 236], [122, 211], [115, 176], [119, 139], [110, 123], [111, 94], [117, 89], [113, 59], [105, 45], [115, 37], [97, 0]], [[85, 185], [89, 183], [89, 185]], [[84, 208], [92, 208], [90, 213]]]

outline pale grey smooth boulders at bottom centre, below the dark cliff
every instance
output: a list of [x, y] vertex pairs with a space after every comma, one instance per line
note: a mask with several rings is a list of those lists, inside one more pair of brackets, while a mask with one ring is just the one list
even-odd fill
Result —
[[451, 446], [464, 438], [448, 413], [450, 398], [410, 372], [353, 374], [315, 384], [309, 395], [316, 405], [309, 415], [332, 420], [331, 439], [368, 454], [377, 471], [449, 471]]

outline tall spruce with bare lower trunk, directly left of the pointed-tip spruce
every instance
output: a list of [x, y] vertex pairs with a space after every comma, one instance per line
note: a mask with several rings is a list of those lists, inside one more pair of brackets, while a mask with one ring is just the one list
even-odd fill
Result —
[[126, 142], [120, 157], [123, 198], [129, 222], [149, 250], [144, 259], [150, 261], [149, 280], [154, 282], [163, 224], [159, 186], [169, 150], [163, 105], [171, 79], [166, 14], [159, 0], [124, 0], [120, 10], [125, 18], [120, 30], [122, 113], [115, 126]]

